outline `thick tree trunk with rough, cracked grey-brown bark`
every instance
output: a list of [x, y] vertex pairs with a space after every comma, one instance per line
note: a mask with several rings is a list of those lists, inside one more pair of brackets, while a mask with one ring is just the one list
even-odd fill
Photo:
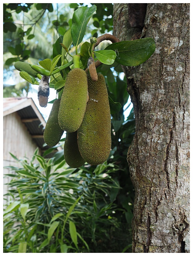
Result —
[[127, 157], [136, 253], [190, 252], [189, 32], [188, 3], [114, 4], [115, 37], [156, 43], [148, 61], [123, 67], [136, 125]]

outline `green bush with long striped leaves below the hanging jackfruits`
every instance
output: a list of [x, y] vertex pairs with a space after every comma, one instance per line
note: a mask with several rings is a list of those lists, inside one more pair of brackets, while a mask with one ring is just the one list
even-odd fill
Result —
[[15, 174], [9, 174], [11, 199], [4, 206], [4, 253], [104, 252], [121, 233], [117, 216], [124, 209], [115, 203], [121, 188], [112, 178], [119, 170], [113, 163], [72, 169], [38, 150], [31, 161], [12, 156], [21, 168], [7, 167]]

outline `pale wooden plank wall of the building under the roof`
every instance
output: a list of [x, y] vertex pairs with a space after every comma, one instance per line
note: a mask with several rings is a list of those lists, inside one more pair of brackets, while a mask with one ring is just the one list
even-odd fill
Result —
[[[18, 159], [24, 159], [24, 157], [31, 159], [36, 148], [37, 145], [32, 140], [26, 126], [21, 122], [17, 112], [3, 117], [3, 166], [18, 166], [9, 152]], [[3, 170], [3, 174], [8, 173], [10, 173], [8, 169]], [[10, 180], [11, 177], [4, 178], [3, 194], [7, 193], [6, 183]]]

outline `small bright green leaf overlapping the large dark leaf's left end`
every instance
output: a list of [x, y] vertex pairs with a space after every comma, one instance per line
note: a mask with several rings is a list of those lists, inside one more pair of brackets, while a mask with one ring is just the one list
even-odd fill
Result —
[[94, 53], [96, 58], [104, 64], [111, 65], [115, 62], [116, 53], [113, 50], [100, 50]]

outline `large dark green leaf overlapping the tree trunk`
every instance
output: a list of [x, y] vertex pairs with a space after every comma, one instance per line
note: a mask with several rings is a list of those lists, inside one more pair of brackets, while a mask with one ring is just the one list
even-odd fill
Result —
[[115, 62], [124, 66], [138, 66], [144, 63], [155, 51], [153, 38], [112, 43], [105, 50], [116, 52]]

